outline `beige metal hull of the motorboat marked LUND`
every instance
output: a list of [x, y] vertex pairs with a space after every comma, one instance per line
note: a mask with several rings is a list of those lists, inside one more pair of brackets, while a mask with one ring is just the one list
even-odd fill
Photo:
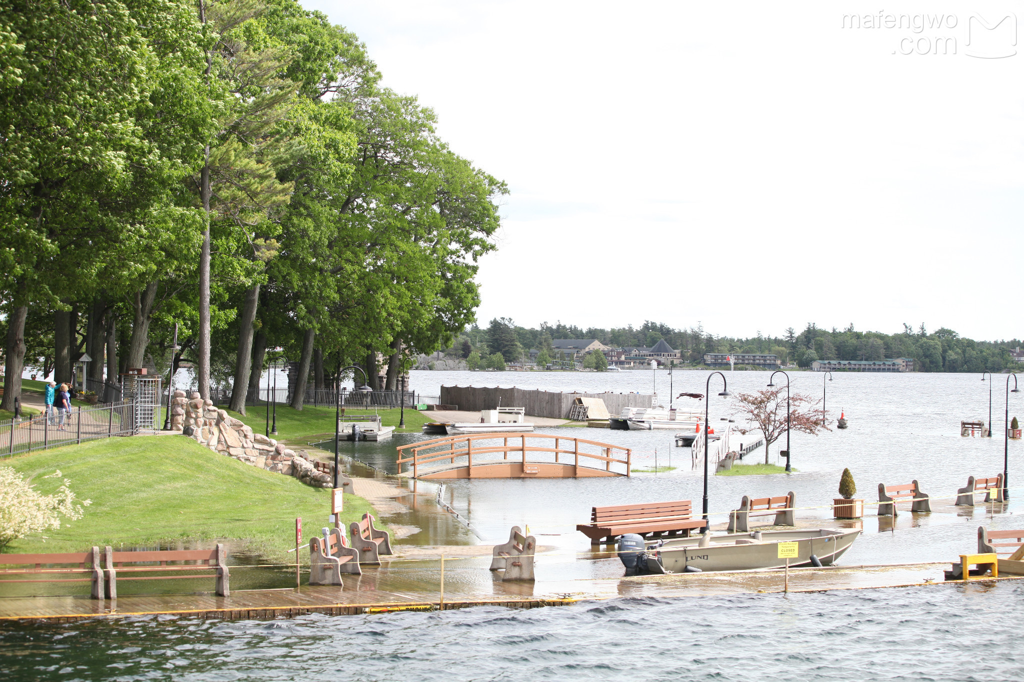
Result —
[[781, 569], [785, 559], [778, 558], [780, 542], [798, 543], [799, 555], [790, 559], [791, 567], [815, 565], [811, 555], [822, 565], [830, 565], [858, 535], [859, 530], [822, 528], [680, 538], [667, 540], [660, 546], [655, 541], [647, 543], [647, 571], [669, 574], [695, 573], [694, 569], [701, 572]]

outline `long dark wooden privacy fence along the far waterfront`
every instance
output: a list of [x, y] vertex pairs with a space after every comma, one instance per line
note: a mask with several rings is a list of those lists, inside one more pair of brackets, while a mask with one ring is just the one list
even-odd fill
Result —
[[638, 393], [554, 393], [525, 389], [441, 387], [440, 402], [460, 410], [479, 412], [504, 407], [523, 407], [535, 417], [568, 419], [577, 398], [600, 398], [608, 414], [622, 414], [625, 407], [653, 407], [653, 396]]

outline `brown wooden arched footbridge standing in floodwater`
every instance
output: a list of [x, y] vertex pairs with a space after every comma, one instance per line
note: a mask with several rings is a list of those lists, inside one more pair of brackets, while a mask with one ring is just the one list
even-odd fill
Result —
[[629, 448], [548, 434], [449, 436], [397, 450], [398, 473], [423, 480], [628, 476], [632, 464]]

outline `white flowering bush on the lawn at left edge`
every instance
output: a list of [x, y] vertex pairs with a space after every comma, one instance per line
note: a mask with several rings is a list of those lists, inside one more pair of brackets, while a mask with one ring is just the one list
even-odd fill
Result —
[[[59, 469], [44, 479], [61, 478]], [[91, 500], [76, 500], [63, 480], [52, 495], [42, 495], [20, 473], [9, 466], [0, 466], [0, 547], [30, 533], [60, 528], [60, 517], [78, 520], [83, 506]], [[81, 504], [79, 504], [79, 502]]]

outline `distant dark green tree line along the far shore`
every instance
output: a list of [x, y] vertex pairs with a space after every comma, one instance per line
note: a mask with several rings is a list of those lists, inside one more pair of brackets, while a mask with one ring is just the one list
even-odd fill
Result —
[[[919, 372], [998, 372], [1017, 365], [1011, 350], [1019, 339], [974, 340], [947, 327], [928, 331], [924, 324], [916, 329], [903, 324], [900, 332], [857, 331], [851, 323], [845, 329], [825, 329], [808, 322], [803, 331], [790, 327], [781, 336], [720, 336], [705, 330], [700, 323], [676, 329], [660, 322], [644, 321], [638, 327], [580, 327], [558, 322], [542, 322], [536, 327], [515, 324], [510, 318], [494, 318], [486, 327], [473, 324], [447, 354], [468, 358], [471, 352], [481, 357], [501, 354], [505, 362], [517, 362], [530, 350], [550, 349], [555, 339], [594, 338], [611, 348], [651, 348], [664, 339], [680, 351], [681, 360], [700, 364], [705, 353], [775, 354], [783, 364], [791, 360], [799, 367], [810, 367], [815, 360], [884, 360], [912, 358]], [[557, 358], [552, 358], [557, 359]]]

